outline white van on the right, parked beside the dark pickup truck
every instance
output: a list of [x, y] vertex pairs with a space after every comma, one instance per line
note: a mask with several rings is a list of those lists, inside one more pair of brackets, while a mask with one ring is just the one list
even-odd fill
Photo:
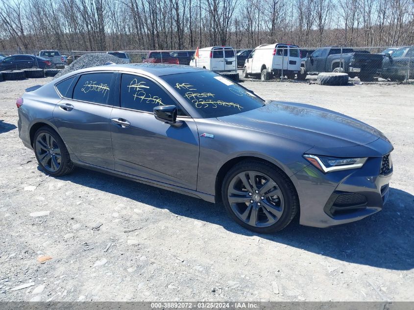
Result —
[[289, 44], [262, 44], [253, 50], [244, 62], [243, 77], [250, 74], [260, 74], [260, 79], [266, 81], [274, 76], [294, 78], [300, 72], [299, 47]]

